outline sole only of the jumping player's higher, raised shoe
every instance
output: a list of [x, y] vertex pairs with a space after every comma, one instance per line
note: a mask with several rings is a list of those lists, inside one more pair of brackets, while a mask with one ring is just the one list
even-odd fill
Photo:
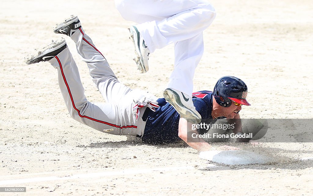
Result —
[[[143, 56], [141, 53], [141, 47], [140, 47], [140, 33], [137, 30], [136, 26], [132, 26], [132, 28], [128, 29], [130, 32], [130, 39], [134, 44], [134, 48], [135, 48], [135, 62], [137, 64], [137, 67], [140, 71], [141, 74], [146, 73], [149, 70], [148, 65], [145, 65], [144, 60], [143, 60]], [[135, 35], [134, 35], [135, 34]]]

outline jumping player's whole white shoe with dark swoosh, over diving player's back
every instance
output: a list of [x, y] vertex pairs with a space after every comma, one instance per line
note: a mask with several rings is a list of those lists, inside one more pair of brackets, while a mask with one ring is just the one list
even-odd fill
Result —
[[170, 103], [182, 118], [188, 122], [199, 123], [201, 122], [201, 115], [193, 105], [192, 98], [185, 93], [167, 88], [163, 92], [164, 98]]

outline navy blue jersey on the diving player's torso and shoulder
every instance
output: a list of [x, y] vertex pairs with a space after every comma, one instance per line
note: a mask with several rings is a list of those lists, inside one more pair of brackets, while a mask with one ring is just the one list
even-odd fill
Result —
[[[212, 119], [212, 92], [199, 91], [192, 93], [192, 101], [202, 119]], [[180, 115], [164, 98], [157, 100], [160, 108], [155, 112], [147, 109], [142, 116], [146, 127], [142, 141], [146, 143], [172, 143], [180, 141], [178, 123]]]

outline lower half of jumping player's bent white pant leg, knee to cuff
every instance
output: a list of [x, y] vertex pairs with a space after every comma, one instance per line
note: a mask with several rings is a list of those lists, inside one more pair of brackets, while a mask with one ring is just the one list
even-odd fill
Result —
[[202, 33], [213, 22], [215, 15], [214, 8], [207, 5], [180, 12], [161, 21], [145, 22], [136, 27], [152, 53], [156, 49]]

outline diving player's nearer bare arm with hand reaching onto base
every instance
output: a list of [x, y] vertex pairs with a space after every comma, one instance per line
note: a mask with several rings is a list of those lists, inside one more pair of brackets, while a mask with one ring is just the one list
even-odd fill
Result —
[[[189, 134], [188, 134], [189, 131]], [[213, 148], [210, 144], [208, 144], [206, 141], [204, 141], [202, 138], [192, 137], [192, 133], [195, 133], [196, 135], [199, 135], [197, 130], [192, 130], [192, 123], [187, 122], [185, 118], [179, 119], [178, 124], [178, 136], [185, 141], [190, 147], [198, 150], [198, 151], [211, 151], [216, 150]], [[188, 140], [187, 140], [188, 137]], [[219, 150], [238, 150], [239, 148], [232, 147], [232, 146], [221, 146], [219, 147]]]

